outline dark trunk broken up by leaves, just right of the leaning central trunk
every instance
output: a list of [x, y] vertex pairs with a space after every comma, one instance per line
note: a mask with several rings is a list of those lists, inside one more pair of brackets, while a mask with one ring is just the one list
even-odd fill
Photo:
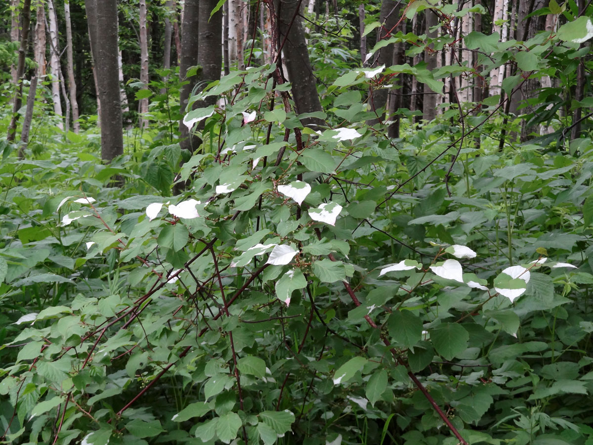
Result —
[[[377, 42], [383, 39], [389, 39], [391, 36], [390, 31], [396, 26], [398, 20], [398, 12], [395, 9], [397, 5], [397, 2], [394, 0], [382, 0], [379, 20], [382, 23], [382, 28], [378, 28]], [[382, 47], [379, 50], [378, 56], [374, 55], [374, 57], [377, 58], [378, 66], [390, 66], [393, 61], [393, 43]], [[371, 106], [371, 112], [377, 113], [377, 117], [368, 120], [366, 122], [368, 125], [375, 125], [385, 120], [385, 106], [387, 105], [388, 94], [389, 90], [387, 88], [374, 88], [371, 91], [369, 105]]]

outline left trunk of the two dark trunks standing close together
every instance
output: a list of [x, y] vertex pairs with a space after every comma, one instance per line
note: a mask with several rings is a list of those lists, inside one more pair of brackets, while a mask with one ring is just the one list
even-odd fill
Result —
[[196, 85], [196, 76], [187, 77], [190, 66], [197, 65], [197, 51], [199, 43], [199, 11], [200, 0], [186, 0], [183, 8], [183, 22], [181, 23], [181, 53], [179, 61], [179, 80], [185, 82], [179, 91], [179, 106], [181, 120], [179, 122], [180, 144], [184, 150], [192, 150], [192, 139], [189, 130], [183, 123], [183, 116], [187, 112], [187, 100]]

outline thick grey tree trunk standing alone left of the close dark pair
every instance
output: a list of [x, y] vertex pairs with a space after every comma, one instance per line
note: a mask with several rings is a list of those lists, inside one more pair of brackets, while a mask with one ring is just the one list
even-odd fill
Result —
[[101, 158], [109, 162], [123, 154], [122, 105], [117, 78], [117, 0], [85, 0], [85, 5], [88, 21], [94, 23], [90, 37], [101, 101]]

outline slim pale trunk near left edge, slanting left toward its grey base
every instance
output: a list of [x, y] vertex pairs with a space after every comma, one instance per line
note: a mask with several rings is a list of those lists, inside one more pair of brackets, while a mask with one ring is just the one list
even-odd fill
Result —
[[37, 23], [35, 24], [34, 38], [34, 60], [36, 63], [35, 72], [31, 77], [29, 84], [29, 93], [27, 96], [27, 111], [23, 120], [23, 129], [21, 130], [21, 146], [18, 148], [18, 157], [23, 158], [25, 148], [29, 142], [29, 132], [31, 130], [31, 121], [33, 120], [33, 109], [35, 107], [35, 96], [37, 93], [37, 80], [45, 74], [45, 8], [43, 3], [37, 5]]

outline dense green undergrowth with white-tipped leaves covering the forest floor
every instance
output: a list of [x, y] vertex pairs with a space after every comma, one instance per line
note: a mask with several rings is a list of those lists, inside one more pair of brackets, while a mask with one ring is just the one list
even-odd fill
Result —
[[496, 103], [388, 139], [353, 72], [318, 132], [264, 66], [193, 155], [167, 96], [109, 165], [2, 146], [7, 443], [593, 443], [591, 139], [501, 151]]

